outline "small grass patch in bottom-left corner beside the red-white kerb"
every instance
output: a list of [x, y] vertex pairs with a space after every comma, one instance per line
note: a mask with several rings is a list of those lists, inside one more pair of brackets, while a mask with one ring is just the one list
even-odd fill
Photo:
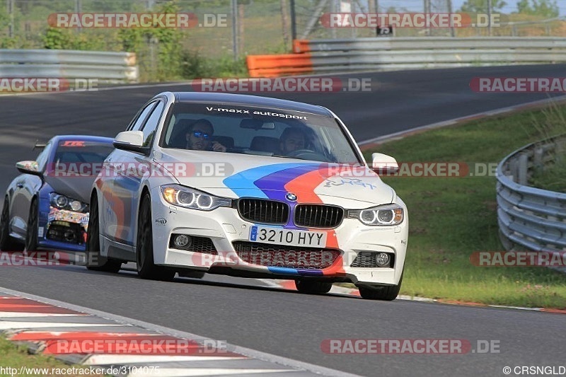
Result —
[[[0, 376], [60, 376], [63, 369], [69, 371], [73, 368], [62, 361], [50, 356], [28, 354], [28, 348], [14, 344], [5, 337], [0, 336]], [[9, 368], [9, 369], [8, 369]], [[25, 368], [25, 369], [23, 369]], [[66, 376], [85, 376], [74, 366], [76, 373], [64, 373]], [[86, 367], [88, 368], [88, 367]], [[21, 373], [23, 372], [23, 373]], [[59, 372], [59, 373], [58, 373]], [[72, 372], [72, 370], [71, 370]], [[91, 374], [90, 376], [104, 376]]]

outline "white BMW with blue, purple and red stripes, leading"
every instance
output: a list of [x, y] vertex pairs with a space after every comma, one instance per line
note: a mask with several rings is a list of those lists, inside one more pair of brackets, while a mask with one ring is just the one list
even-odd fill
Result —
[[[397, 296], [407, 209], [330, 110], [161, 93], [114, 145], [110, 170], [132, 171], [94, 182], [89, 268], [132, 261], [145, 279], [209, 272], [293, 279], [305, 293], [352, 282], [364, 298]], [[372, 168], [395, 166], [375, 153]]]

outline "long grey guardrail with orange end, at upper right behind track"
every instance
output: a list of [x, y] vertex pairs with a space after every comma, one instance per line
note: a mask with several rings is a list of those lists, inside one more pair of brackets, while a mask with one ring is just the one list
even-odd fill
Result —
[[250, 76], [566, 62], [566, 39], [556, 37], [295, 40], [293, 50], [295, 54], [248, 56]]

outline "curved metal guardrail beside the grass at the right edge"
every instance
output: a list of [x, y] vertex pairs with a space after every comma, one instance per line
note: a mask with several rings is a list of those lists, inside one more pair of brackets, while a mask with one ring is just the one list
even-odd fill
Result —
[[565, 158], [566, 137], [529, 144], [497, 166], [497, 222], [507, 250], [566, 250], [566, 194], [529, 187], [536, 169]]

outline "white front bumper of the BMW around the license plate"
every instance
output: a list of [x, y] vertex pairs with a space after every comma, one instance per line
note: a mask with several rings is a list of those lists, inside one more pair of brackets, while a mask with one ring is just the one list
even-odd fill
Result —
[[[312, 229], [312, 231], [327, 233], [327, 245], [324, 250], [337, 250], [338, 257], [328, 267], [318, 269], [311, 266], [305, 269], [285, 267], [281, 264], [269, 266], [246, 262], [242, 253], [236, 252], [234, 243], [250, 242], [250, 227], [262, 224], [253, 224], [241, 219], [236, 209], [226, 207], [219, 207], [214, 211], [184, 209], [165, 202], [160, 192], [152, 194], [154, 199], [152, 201], [154, 262], [156, 265], [178, 270], [200, 269], [209, 273], [241, 277], [271, 277], [274, 279], [298, 279], [300, 277], [301, 279], [324, 279], [329, 282], [376, 285], [396, 285], [403, 272], [408, 240], [406, 211], [405, 220], [398, 226], [370, 227], [357, 219], [344, 219], [337, 228]], [[172, 234], [209, 238], [214, 244], [216, 253], [210, 253], [209, 250], [204, 253], [194, 253], [173, 248], [171, 247], [173, 246], [171, 245]], [[275, 246], [277, 249], [277, 245], [270, 246]], [[284, 243], [282, 246], [285, 248]], [[304, 250], [306, 253], [302, 255], [314, 254], [310, 253], [313, 251], [311, 248], [296, 247], [295, 249]], [[352, 267], [352, 263], [360, 253], [388, 253], [393, 257], [393, 266]]]

